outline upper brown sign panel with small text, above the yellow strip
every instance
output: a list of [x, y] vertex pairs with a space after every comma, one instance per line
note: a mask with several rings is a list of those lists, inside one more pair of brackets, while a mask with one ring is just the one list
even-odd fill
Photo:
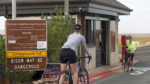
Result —
[[7, 20], [7, 51], [46, 50], [45, 20]]

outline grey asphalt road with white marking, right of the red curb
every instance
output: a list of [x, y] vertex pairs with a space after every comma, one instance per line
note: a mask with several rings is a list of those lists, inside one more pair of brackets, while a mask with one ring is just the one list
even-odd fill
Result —
[[119, 71], [117, 74], [93, 84], [150, 84], [150, 46], [136, 50], [134, 71]]

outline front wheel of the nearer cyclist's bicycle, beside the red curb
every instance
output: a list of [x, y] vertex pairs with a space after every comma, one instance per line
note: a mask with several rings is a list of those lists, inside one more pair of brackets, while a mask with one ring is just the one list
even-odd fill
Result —
[[85, 68], [79, 70], [78, 78], [78, 84], [89, 84], [89, 74]]

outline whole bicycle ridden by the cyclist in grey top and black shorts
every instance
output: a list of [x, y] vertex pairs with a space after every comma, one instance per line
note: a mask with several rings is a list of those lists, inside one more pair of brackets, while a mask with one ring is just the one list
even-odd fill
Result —
[[[83, 68], [80, 65], [80, 60], [83, 58], [89, 58], [88, 63], [90, 63], [91, 58], [89, 56], [79, 56], [78, 58], [78, 84], [79, 82], [82, 82], [83, 84], [89, 84], [89, 74], [86, 68]], [[61, 78], [61, 75], [65, 74], [65, 78], [62, 84], [73, 84], [73, 74], [71, 72], [71, 66], [69, 65], [69, 69], [62, 71], [59, 75], [58, 75], [58, 79], [57, 79], [57, 84], [59, 84], [59, 80]]]

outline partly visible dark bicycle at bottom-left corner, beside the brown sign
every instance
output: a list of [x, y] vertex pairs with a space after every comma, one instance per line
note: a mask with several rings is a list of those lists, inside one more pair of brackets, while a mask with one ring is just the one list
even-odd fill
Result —
[[16, 84], [17, 75], [16, 70], [9, 64], [0, 63], [0, 84], [5, 83], [5, 79], [9, 76], [10, 84]]

